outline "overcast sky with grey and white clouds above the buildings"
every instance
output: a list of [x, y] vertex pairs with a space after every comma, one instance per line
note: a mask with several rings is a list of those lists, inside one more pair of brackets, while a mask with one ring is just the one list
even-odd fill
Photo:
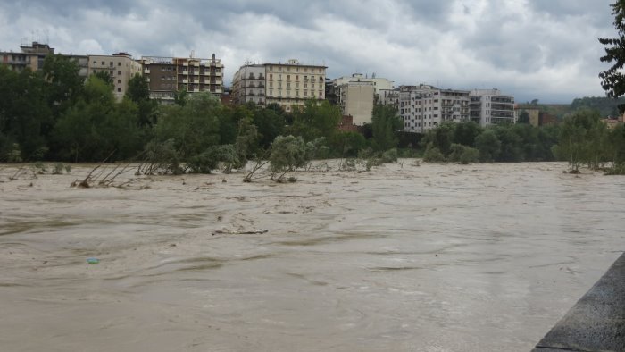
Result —
[[325, 64], [395, 85], [500, 88], [517, 102], [604, 96], [597, 38], [613, 0], [0, 0], [0, 51], [214, 53], [226, 84], [246, 61]]

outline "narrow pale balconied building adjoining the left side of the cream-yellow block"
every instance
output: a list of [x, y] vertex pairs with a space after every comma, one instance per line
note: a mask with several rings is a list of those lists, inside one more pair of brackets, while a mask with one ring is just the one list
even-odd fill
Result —
[[232, 79], [232, 99], [237, 104], [265, 105], [265, 65], [246, 63]]

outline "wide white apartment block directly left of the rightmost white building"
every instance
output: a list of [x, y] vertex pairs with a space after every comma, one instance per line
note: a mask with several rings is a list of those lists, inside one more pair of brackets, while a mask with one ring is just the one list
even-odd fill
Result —
[[404, 121], [404, 130], [423, 133], [443, 122], [469, 120], [469, 91], [440, 89], [421, 84], [400, 86], [384, 92], [384, 103], [396, 106]]

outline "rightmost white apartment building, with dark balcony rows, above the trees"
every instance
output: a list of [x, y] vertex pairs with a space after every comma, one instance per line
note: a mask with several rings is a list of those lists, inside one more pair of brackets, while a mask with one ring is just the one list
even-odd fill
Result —
[[471, 120], [485, 127], [497, 123], [515, 123], [514, 96], [501, 93], [499, 89], [473, 89], [471, 98]]

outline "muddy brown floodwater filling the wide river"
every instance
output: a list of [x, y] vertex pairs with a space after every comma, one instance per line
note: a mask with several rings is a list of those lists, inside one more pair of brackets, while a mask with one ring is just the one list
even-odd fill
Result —
[[528, 351], [625, 247], [625, 178], [565, 168], [0, 165], [0, 350]]

